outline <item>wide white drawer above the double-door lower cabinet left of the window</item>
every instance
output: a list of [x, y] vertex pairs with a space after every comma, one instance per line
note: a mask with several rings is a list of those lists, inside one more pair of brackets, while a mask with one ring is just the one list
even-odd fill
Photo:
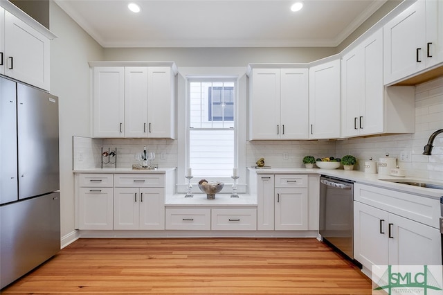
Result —
[[165, 187], [165, 176], [159, 174], [116, 174], [114, 175], [114, 183], [116, 188], [163, 188]]

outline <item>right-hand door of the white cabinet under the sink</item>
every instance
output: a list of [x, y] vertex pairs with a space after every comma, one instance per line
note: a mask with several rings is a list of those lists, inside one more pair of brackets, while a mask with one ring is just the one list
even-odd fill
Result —
[[390, 265], [442, 265], [441, 234], [431, 226], [389, 216]]

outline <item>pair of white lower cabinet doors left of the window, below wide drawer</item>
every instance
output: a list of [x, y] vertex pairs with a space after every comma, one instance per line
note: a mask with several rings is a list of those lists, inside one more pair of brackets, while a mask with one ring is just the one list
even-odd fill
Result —
[[114, 229], [165, 229], [164, 188], [114, 188]]

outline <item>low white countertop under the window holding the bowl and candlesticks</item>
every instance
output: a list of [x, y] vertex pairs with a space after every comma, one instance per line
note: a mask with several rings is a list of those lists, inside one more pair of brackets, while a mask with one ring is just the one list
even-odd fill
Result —
[[194, 194], [194, 197], [185, 197], [186, 194], [172, 195], [165, 201], [165, 206], [235, 206], [256, 207], [257, 196], [239, 194], [239, 197], [230, 197], [230, 194], [217, 194], [215, 199], [207, 199], [206, 194]]

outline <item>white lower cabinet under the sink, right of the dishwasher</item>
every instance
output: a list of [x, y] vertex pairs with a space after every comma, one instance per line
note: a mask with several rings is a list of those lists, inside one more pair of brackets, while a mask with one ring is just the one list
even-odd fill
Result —
[[[434, 226], [438, 200], [361, 184], [354, 186], [354, 199], [354, 258], [363, 267], [442, 264], [440, 230]], [[396, 213], [419, 213], [428, 224], [388, 211], [395, 200]]]

